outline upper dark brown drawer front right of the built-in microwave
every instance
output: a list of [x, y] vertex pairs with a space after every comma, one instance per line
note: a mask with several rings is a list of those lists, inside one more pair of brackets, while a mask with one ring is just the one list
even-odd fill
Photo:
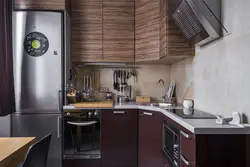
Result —
[[180, 131], [180, 155], [188, 162], [195, 162], [196, 144], [194, 134], [187, 131]]

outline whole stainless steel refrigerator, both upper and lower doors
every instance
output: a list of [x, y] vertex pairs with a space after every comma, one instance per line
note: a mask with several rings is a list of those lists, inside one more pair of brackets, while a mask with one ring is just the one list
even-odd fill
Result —
[[67, 13], [13, 12], [13, 61], [16, 113], [11, 135], [52, 133], [48, 167], [62, 166], [61, 114], [70, 68]]

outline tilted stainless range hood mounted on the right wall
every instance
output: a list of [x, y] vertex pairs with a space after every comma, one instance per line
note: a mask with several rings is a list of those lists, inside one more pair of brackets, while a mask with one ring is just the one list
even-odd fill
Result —
[[172, 1], [172, 18], [189, 44], [202, 46], [222, 36], [221, 0]]

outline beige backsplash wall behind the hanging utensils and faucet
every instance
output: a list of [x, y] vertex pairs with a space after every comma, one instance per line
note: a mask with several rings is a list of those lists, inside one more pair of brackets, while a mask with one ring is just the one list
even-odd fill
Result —
[[[116, 93], [113, 89], [113, 72], [117, 68], [95, 67], [98, 77], [96, 79], [97, 87], [108, 87], [109, 91]], [[93, 67], [81, 68], [77, 70], [78, 88], [82, 88], [83, 76], [92, 75]], [[138, 83], [134, 83], [133, 77], [128, 81], [132, 86], [132, 97], [136, 95], [150, 96], [155, 100], [161, 100], [161, 87], [157, 87], [159, 79], [165, 82], [164, 91], [166, 92], [170, 82], [170, 66], [168, 65], [138, 65]]]

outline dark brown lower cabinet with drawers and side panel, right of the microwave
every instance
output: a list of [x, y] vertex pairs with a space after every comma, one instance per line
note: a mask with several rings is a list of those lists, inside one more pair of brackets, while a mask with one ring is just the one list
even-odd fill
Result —
[[247, 167], [246, 135], [180, 131], [181, 167]]

